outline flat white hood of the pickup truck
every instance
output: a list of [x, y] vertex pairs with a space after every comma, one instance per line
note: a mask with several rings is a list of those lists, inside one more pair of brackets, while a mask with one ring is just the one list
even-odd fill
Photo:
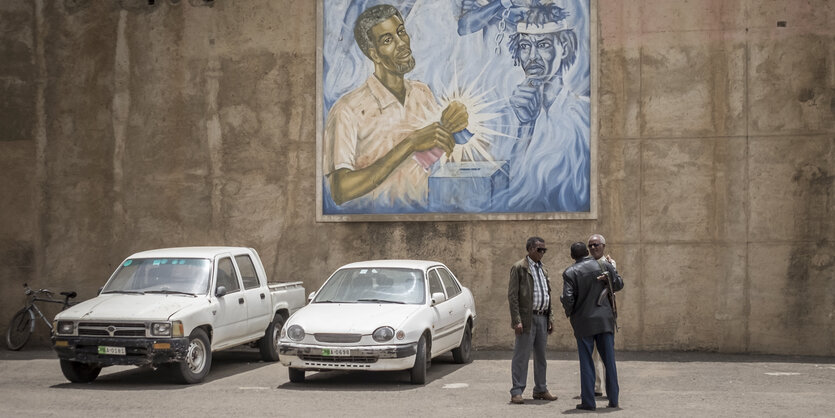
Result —
[[205, 298], [185, 295], [99, 295], [64, 310], [58, 319], [167, 320], [171, 315]]

